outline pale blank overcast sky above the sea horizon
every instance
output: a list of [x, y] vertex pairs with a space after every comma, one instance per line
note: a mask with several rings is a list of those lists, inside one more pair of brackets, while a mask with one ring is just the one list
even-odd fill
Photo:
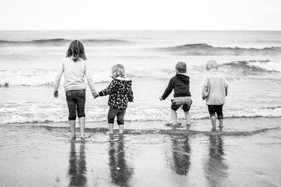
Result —
[[281, 30], [280, 0], [0, 0], [0, 30]]

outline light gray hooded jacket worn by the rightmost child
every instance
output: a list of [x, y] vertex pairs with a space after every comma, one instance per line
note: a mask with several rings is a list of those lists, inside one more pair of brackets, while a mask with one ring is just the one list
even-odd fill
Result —
[[228, 82], [217, 69], [210, 69], [202, 85], [202, 98], [207, 105], [221, 105], [226, 102]]

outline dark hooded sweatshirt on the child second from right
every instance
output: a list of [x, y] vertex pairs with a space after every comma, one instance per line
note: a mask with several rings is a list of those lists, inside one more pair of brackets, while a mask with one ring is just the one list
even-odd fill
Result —
[[166, 99], [174, 89], [174, 97], [190, 97], [189, 92], [189, 76], [185, 76], [183, 74], [176, 74], [173, 78], [171, 78], [168, 87], [166, 88], [164, 94], [162, 95], [162, 99]]

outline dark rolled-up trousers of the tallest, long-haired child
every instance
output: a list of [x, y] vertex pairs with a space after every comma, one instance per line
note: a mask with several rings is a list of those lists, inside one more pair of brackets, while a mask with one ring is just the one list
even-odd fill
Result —
[[76, 120], [76, 111], [78, 118], [85, 117], [85, 90], [69, 90], [65, 92], [69, 116], [68, 120]]

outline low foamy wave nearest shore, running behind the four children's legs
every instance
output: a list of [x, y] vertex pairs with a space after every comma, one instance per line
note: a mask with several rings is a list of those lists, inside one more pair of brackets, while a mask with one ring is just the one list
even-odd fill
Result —
[[[87, 122], [106, 122], [108, 106], [88, 104], [86, 106]], [[0, 105], [0, 123], [62, 123], [67, 122], [67, 106], [63, 104], [42, 104], [32, 102], [7, 103]], [[193, 106], [190, 111], [193, 120], [209, 118], [204, 107]], [[281, 106], [256, 109], [225, 109], [225, 118], [277, 118], [281, 117]], [[183, 120], [183, 113], [178, 113]], [[131, 106], [126, 110], [126, 121], [169, 121], [169, 106]]]

